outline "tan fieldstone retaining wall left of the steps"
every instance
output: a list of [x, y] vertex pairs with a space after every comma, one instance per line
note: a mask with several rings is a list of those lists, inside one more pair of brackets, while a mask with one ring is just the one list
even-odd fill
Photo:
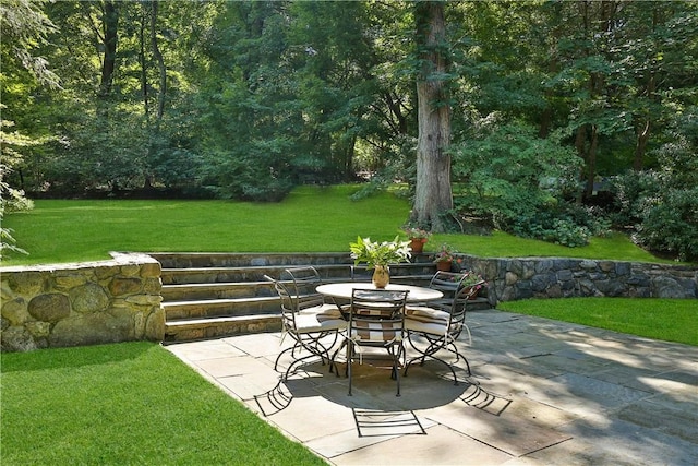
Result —
[[163, 340], [160, 264], [145, 254], [112, 255], [112, 261], [2, 267], [1, 350]]

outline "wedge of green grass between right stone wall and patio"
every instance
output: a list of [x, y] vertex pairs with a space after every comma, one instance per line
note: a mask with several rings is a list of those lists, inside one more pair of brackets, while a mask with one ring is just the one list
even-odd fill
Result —
[[698, 346], [695, 299], [527, 299], [500, 302], [497, 309]]

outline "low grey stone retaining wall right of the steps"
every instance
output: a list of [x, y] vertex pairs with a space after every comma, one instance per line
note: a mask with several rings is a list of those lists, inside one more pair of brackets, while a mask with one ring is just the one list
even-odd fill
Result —
[[698, 267], [588, 259], [461, 255], [489, 284], [490, 303], [526, 298], [698, 298]]

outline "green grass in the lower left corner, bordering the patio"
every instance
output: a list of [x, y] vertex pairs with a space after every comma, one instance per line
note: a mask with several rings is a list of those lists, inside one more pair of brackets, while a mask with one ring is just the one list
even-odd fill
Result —
[[3, 465], [324, 464], [156, 344], [1, 357]]

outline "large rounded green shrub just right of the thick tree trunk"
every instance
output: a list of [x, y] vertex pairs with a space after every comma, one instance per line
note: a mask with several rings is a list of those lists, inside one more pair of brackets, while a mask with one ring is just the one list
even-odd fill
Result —
[[601, 229], [590, 225], [590, 213], [569, 202], [579, 159], [559, 144], [559, 135], [542, 140], [530, 126], [490, 118], [482, 121], [482, 135], [454, 151], [454, 172], [467, 186], [458, 199], [460, 211], [567, 247], [587, 244]]

